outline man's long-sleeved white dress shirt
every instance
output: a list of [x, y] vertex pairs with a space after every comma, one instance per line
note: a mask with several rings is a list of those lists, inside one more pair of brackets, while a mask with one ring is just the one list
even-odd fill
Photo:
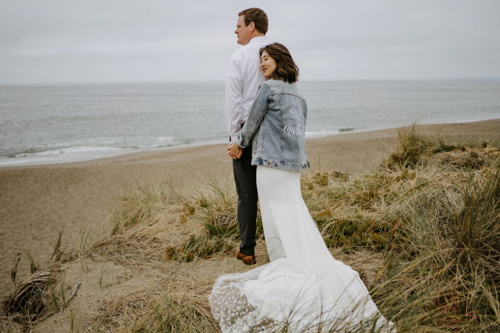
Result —
[[229, 58], [225, 80], [225, 123], [231, 142], [236, 140], [241, 124], [248, 118], [258, 86], [266, 80], [260, 70], [258, 51], [270, 43], [266, 36], [253, 37]]

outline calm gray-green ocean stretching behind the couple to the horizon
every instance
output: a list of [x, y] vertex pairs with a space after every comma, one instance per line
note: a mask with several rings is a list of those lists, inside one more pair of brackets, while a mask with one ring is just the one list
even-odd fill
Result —
[[[500, 118], [500, 81], [303, 81], [306, 137]], [[223, 81], [0, 85], [0, 166], [228, 142]]]

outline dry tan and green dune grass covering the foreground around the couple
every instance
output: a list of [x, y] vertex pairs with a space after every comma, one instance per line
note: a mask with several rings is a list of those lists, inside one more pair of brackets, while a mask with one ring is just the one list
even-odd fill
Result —
[[[399, 332], [500, 331], [494, 142], [448, 143], [410, 126], [373, 172], [351, 179], [309, 171], [301, 188], [325, 244], [360, 273]], [[100, 308], [85, 330], [218, 332], [206, 296], [217, 276], [231, 272], [223, 262], [238, 244], [230, 182], [209, 180], [189, 194], [161, 181], [127, 190], [109, 225], [75, 252], [61, 250], [59, 240], [46, 265], [33, 262], [32, 275], [3, 300], [1, 327], [25, 329], [59, 310], [64, 263], [106, 260], [143, 276], [143, 286]], [[257, 246], [263, 244], [259, 217]], [[375, 332], [363, 325], [359, 332]], [[286, 323], [273, 331], [288, 332]]]

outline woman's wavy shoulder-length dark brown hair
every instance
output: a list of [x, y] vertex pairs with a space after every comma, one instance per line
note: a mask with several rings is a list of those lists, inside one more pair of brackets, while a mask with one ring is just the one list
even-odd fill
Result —
[[270, 76], [273, 80], [282, 80], [285, 82], [293, 83], [298, 79], [298, 67], [291, 58], [288, 49], [280, 43], [273, 43], [262, 47], [259, 54], [266, 51], [271, 58], [276, 61], [276, 70]]

